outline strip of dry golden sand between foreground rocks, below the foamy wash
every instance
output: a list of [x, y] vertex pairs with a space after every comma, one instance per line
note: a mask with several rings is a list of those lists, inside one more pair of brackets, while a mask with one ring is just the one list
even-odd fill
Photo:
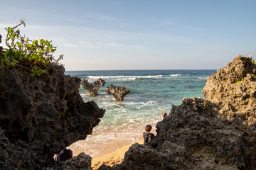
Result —
[[[143, 140], [139, 140], [138, 143], [143, 144]], [[127, 152], [129, 147], [131, 147], [132, 145], [126, 145], [124, 147], [117, 149], [117, 151], [112, 152], [110, 154], [105, 154], [101, 157], [92, 158], [92, 169], [98, 169], [102, 164], [106, 164], [108, 166], [113, 166], [114, 164], [121, 163], [122, 160], [124, 159], [125, 152]]]

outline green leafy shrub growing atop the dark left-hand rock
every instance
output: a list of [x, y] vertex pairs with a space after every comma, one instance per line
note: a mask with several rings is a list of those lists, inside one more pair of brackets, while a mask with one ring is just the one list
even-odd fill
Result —
[[62, 60], [63, 55], [60, 55], [58, 60], [53, 57], [56, 47], [51, 45], [52, 41], [48, 40], [29, 40], [21, 33], [18, 26], [26, 27], [24, 20], [21, 20], [14, 28], [6, 28], [6, 46], [3, 55], [1, 56], [1, 67], [7, 69], [11, 67], [20, 67], [21, 70], [28, 69], [31, 71], [31, 76], [40, 76], [46, 73], [48, 64], [58, 64]]

